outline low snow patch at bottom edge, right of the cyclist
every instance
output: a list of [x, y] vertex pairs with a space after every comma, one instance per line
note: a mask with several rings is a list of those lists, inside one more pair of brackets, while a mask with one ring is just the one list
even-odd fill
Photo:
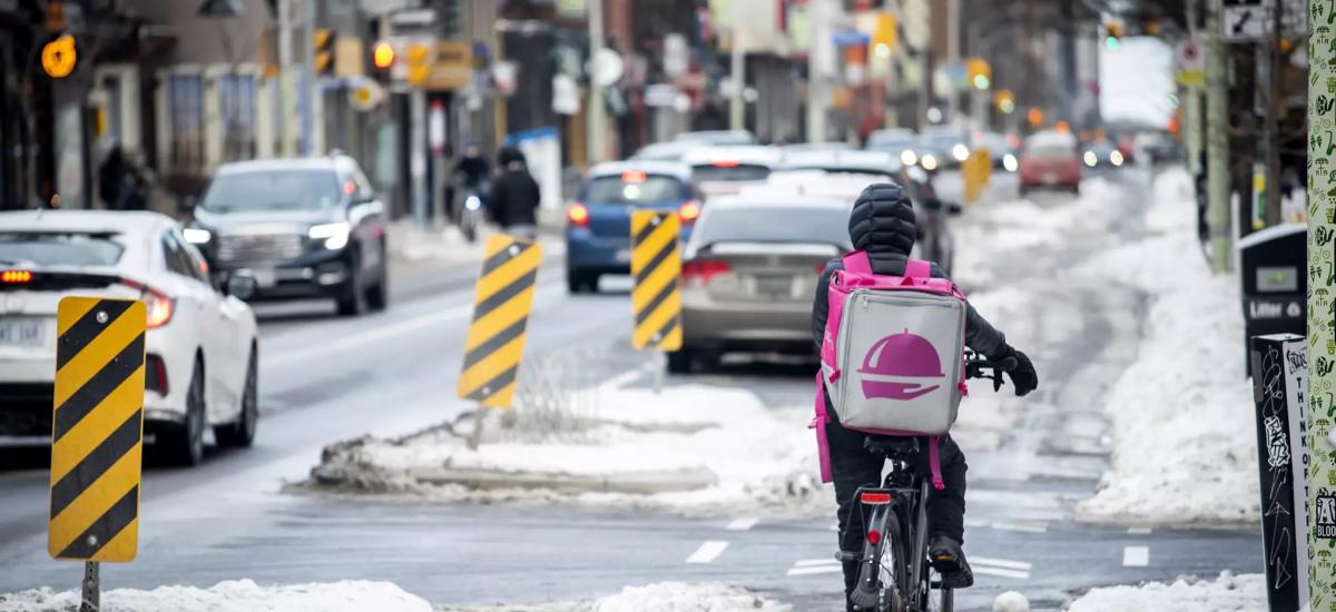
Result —
[[1216, 580], [1173, 584], [1150, 583], [1141, 587], [1108, 587], [1092, 589], [1071, 603], [1067, 612], [1253, 612], [1267, 609], [1267, 576], [1240, 576], [1221, 572]]

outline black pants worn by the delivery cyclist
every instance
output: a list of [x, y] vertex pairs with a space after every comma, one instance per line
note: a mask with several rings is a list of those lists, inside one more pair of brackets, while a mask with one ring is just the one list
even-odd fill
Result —
[[[832, 414], [834, 416], [834, 414]], [[886, 458], [863, 449], [867, 434], [844, 429], [838, 422], [826, 426], [831, 452], [831, 473], [835, 477], [835, 500], [839, 502], [839, 548], [852, 553], [863, 552], [863, 539], [867, 533], [862, 506], [854, 500], [859, 486], [880, 486], [882, 468]], [[965, 453], [950, 436], [943, 436], [939, 448], [942, 482], [945, 489], [930, 489], [927, 498], [929, 536], [945, 534], [965, 541]], [[916, 474], [931, 478], [927, 438], [919, 440], [919, 453], [910, 458], [910, 466]], [[858, 563], [844, 564], [844, 601], [847, 609], [848, 593], [858, 584]]]

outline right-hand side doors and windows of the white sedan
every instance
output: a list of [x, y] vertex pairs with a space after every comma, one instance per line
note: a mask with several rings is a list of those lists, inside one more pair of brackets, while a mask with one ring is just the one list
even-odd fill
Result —
[[[208, 281], [208, 269], [191, 253], [179, 230], [163, 233], [167, 270], [175, 277], [178, 311], [190, 314], [195, 341], [204, 353], [204, 396], [210, 421], [228, 418], [238, 406], [240, 382], [235, 349], [236, 326], [222, 315], [220, 295]], [[178, 330], [178, 333], [183, 333]]]

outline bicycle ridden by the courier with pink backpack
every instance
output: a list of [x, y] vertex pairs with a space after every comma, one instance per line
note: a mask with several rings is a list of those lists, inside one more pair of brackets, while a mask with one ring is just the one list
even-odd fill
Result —
[[[1015, 367], [1015, 358], [994, 363], [966, 351], [966, 378], [993, 381], [1002, 389], [1002, 373]], [[987, 374], [986, 370], [991, 370]], [[927, 497], [931, 478], [915, 474], [908, 457], [919, 450], [916, 437], [868, 436], [863, 448], [884, 454], [891, 464], [882, 486], [862, 486], [854, 494], [859, 512], [870, 512], [862, 555], [836, 552], [840, 563], [858, 561], [858, 587], [850, 595], [855, 607], [874, 612], [951, 612], [953, 593], [934, 580], [927, 557]], [[908, 551], [906, 551], [908, 545]], [[890, 561], [883, 557], [890, 555]], [[933, 597], [934, 591], [937, 597]]]

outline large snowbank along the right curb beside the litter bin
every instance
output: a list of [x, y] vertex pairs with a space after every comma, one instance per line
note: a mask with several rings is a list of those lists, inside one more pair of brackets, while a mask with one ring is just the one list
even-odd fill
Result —
[[1078, 518], [1217, 524], [1259, 518], [1256, 433], [1244, 379], [1238, 281], [1212, 275], [1197, 245], [1185, 172], [1157, 179], [1148, 226], [1165, 231], [1077, 270], [1152, 295], [1137, 361], [1104, 406], [1114, 456]]

